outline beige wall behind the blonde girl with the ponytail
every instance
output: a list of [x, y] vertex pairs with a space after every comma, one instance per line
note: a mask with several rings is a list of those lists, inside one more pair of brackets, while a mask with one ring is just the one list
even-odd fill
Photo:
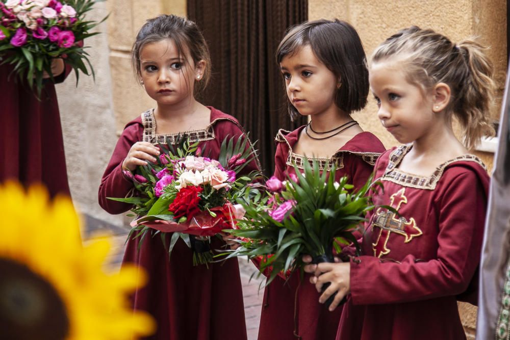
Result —
[[[491, 46], [489, 56], [496, 67], [499, 97], [491, 115], [499, 117], [501, 93], [506, 74], [506, 1], [503, 0], [309, 0], [309, 19], [337, 17], [349, 21], [360, 34], [367, 56], [374, 48], [399, 29], [418, 25], [445, 34], [454, 42], [478, 36]], [[355, 114], [365, 130], [369, 130], [387, 147], [397, 141], [380, 125], [376, 105], [369, 100], [363, 112]], [[476, 152], [489, 168], [493, 154]], [[476, 307], [460, 304], [463, 324], [468, 338], [474, 338]]]

